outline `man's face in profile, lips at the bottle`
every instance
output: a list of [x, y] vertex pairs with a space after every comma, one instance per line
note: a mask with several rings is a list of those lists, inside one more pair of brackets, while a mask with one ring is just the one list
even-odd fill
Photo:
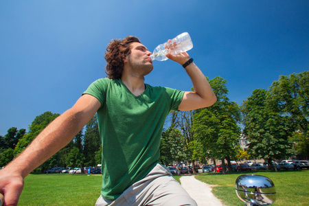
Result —
[[153, 69], [151, 52], [141, 43], [130, 43], [130, 54], [126, 57], [125, 62], [130, 66], [131, 72], [140, 76], [146, 76]]

